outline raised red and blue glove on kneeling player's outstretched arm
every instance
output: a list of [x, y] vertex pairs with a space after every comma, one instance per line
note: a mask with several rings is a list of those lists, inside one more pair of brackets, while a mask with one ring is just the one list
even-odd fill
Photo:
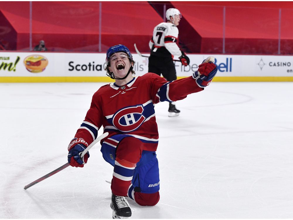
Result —
[[199, 87], [204, 88], [212, 82], [212, 79], [218, 71], [214, 62], [214, 57], [207, 57], [207, 59], [198, 66], [198, 70], [193, 73], [192, 77], [195, 79], [195, 82]]

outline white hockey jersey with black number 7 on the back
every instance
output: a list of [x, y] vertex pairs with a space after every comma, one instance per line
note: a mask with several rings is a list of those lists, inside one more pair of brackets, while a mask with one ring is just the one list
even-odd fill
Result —
[[181, 56], [182, 53], [176, 44], [178, 40], [178, 28], [169, 22], [159, 23], [149, 41], [151, 55], [159, 57]]

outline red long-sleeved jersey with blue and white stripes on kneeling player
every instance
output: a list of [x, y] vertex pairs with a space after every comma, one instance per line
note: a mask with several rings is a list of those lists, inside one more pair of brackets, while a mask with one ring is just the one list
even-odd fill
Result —
[[91, 107], [75, 137], [90, 144], [103, 126], [103, 132], [109, 132], [107, 138], [128, 134], [143, 142], [143, 150], [156, 151], [159, 134], [154, 105], [181, 100], [202, 90], [191, 76], [168, 82], [154, 73], [134, 77], [123, 86], [104, 85], [93, 95]]

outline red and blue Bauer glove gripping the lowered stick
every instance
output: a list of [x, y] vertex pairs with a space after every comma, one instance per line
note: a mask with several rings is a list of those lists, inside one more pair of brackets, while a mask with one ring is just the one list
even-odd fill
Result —
[[87, 152], [83, 158], [80, 157], [81, 153], [88, 147], [88, 143], [82, 138], [73, 138], [68, 145], [68, 163], [72, 167], [84, 167], [88, 161], [90, 154]]

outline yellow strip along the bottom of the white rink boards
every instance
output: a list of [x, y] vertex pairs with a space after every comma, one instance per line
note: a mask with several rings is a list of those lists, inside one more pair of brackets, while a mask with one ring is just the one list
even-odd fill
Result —
[[[182, 79], [185, 77], [178, 77]], [[109, 77], [0, 77], [0, 83], [9, 82], [114, 82]], [[293, 77], [214, 77], [213, 82], [293, 82]]]

